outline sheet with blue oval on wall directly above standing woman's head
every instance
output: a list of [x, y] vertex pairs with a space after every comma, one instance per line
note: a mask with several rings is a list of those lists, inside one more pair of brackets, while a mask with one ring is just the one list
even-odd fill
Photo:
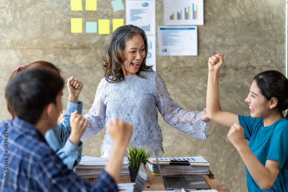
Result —
[[156, 0], [126, 0], [126, 24], [140, 27], [146, 35], [156, 35]]

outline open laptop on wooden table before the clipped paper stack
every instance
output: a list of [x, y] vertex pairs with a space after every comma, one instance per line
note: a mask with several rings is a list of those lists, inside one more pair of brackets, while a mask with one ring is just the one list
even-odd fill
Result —
[[[188, 190], [197, 190], [197, 189], [210, 189], [209, 185], [206, 183], [205, 179], [201, 175], [183, 175], [183, 176], [163, 176], [161, 172], [161, 167], [158, 161], [158, 154], [154, 143], [152, 143], [154, 155], [157, 161], [158, 170], [163, 182], [163, 185], [166, 190], [175, 190], [175, 189], [188, 189]], [[173, 166], [173, 165], [171, 165]]]

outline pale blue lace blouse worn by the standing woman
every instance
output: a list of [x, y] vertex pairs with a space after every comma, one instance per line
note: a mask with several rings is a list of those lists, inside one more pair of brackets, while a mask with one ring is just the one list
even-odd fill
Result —
[[[100, 132], [106, 124], [107, 130], [101, 146], [101, 156], [110, 156], [113, 139], [108, 122], [123, 119], [133, 126], [130, 144], [152, 149], [153, 140], [157, 153], [164, 149], [162, 132], [158, 124], [158, 111], [164, 121], [178, 130], [198, 139], [205, 140], [209, 134], [209, 121], [202, 121], [204, 111], [184, 110], [173, 102], [162, 77], [155, 71], [142, 71], [143, 77], [126, 76], [124, 81], [109, 83], [105, 78], [98, 85], [94, 103], [84, 115], [88, 126], [81, 140]], [[105, 119], [106, 118], [106, 119]]]

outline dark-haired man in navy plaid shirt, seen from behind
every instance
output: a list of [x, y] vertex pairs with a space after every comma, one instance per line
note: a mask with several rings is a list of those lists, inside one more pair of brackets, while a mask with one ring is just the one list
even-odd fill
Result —
[[[40, 68], [23, 71], [7, 85], [5, 98], [13, 102], [16, 117], [0, 123], [0, 191], [118, 191], [116, 182], [132, 125], [118, 119], [110, 122], [113, 152], [103, 173], [90, 185], [67, 169], [44, 138], [62, 110], [63, 85], [58, 73]], [[84, 132], [87, 121], [75, 111], [70, 125]]]

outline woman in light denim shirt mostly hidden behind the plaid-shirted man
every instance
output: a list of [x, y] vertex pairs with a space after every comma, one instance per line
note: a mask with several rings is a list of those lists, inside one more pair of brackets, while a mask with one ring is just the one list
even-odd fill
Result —
[[[10, 75], [8, 83], [13, 79], [13, 77], [15, 77], [17, 73], [31, 67], [54, 69], [60, 73], [59, 69], [53, 64], [45, 61], [37, 61], [24, 67], [19, 65], [17, 67], [17, 70], [13, 71]], [[37, 79], [34, 79], [34, 81], [37, 81]], [[57, 127], [48, 130], [44, 137], [51, 149], [53, 149], [58, 155], [58, 157], [62, 159], [63, 163], [67, 165], [67, 168], [72, 170], [81, 159], [82, 142], [80, 141], [80, 137], [82, 136], [83, 131], [71, 130], [70, 114], [77, 110], [78, 113], [82, 115], [82, 101], [78, 101], [78, 97], [83, 88], [83, 83], [81, 83], [77, 79], [73, 79], [72, 76], [67, 81], [67, 87], [69, 91], [69, 99], [67, 103], [66, 113], [63, 115], [63, 120], [62, 122], [57, 123]], [[26, 89], [24, 89], [24, 93], [25, 90], [27, 92], [29, 88], [27, 87]], [[11, 110], [12, 104], [13, 101], [7, 102], [7, 110], [12, 115], [12, 119], [14, 119], [15, 115]], [[36, 127], [39, 128], [45, 123], [46, 122], [44, 121], [40, 122], [36, 125]]]

